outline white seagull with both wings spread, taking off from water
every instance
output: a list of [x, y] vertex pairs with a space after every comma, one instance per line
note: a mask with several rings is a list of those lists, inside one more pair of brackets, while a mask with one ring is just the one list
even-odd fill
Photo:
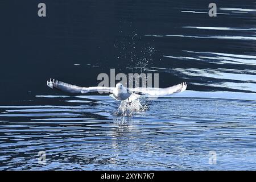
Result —
[[89, 93], [89, 92], [100, 92], [100, 93], [111, 93], [109, 96], [118, 101], [128, 101], [133, 102], [141, 95], [136, 94], [140, 93], [143, 95], [160, 97], [168, 96], [173, 93], [184, 92], [187, 89], [187, 83], [182, 82], [181, 84], [170, 86], [168, 88], [126, 88], [121, 83], [118, 83], [115, 87], [106, 87], [106, 86], [90, 86], [90, 87], [81, 87], [76, 85], [67, 84], [62, 81], [55, 79], [50, 79], [47, 81], [47, 86], [51, 89], [57, 89], [68, 93]]

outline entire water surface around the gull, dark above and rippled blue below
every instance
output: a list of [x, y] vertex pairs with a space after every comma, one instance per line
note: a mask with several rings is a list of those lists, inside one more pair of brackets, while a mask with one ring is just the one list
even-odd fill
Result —
[[[255, 169], [256, 1], [0, 1], [0, 169]], [[187, 91], [115, 116], [99, 73]], [[38, 152], [46, 151], [46, 164]], [[209, 164], [209, 152], [217, 164]]]

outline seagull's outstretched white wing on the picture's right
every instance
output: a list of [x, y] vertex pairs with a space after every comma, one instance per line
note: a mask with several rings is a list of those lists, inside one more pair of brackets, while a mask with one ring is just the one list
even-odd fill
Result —
[[187, 83], [183, 82], [178, 85], [170, 86], [168, 88], [129, 88], [129, 92], [139, 92], [150, 96], [168, 96], [173, 93], [183, 92], [187, 89]]

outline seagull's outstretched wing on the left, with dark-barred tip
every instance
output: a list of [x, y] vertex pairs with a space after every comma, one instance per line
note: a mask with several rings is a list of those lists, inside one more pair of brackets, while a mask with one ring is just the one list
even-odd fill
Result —
[[49, 81], [47, 81], [47, 86], [49, 86], [49, 88], [62, 90], [68, 93], [88, 93], [88, 92], [113, 93], [113, 89], [114, 89], [113, 87], [105, 87], [105, 86], [81, 87], [81, 86], [67, 84], [65, 82], [54, 80], [54, 79], [53, 80], [50, 79]]

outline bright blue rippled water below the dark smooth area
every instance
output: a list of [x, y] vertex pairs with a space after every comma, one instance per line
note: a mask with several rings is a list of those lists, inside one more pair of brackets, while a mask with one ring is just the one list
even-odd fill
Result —
[[[115, 117], [118, 102], [104, 97], [66, 108], [66, 98], [60, 106], [1, 106], [0, 168], [255, 167], [255, 101], [159, 98], [147, 111]], [[39, 151], [46, 151], [46, 165], [38, 164]], [[208, 164], [209, 151], [217, 152], [216, 165]]]

